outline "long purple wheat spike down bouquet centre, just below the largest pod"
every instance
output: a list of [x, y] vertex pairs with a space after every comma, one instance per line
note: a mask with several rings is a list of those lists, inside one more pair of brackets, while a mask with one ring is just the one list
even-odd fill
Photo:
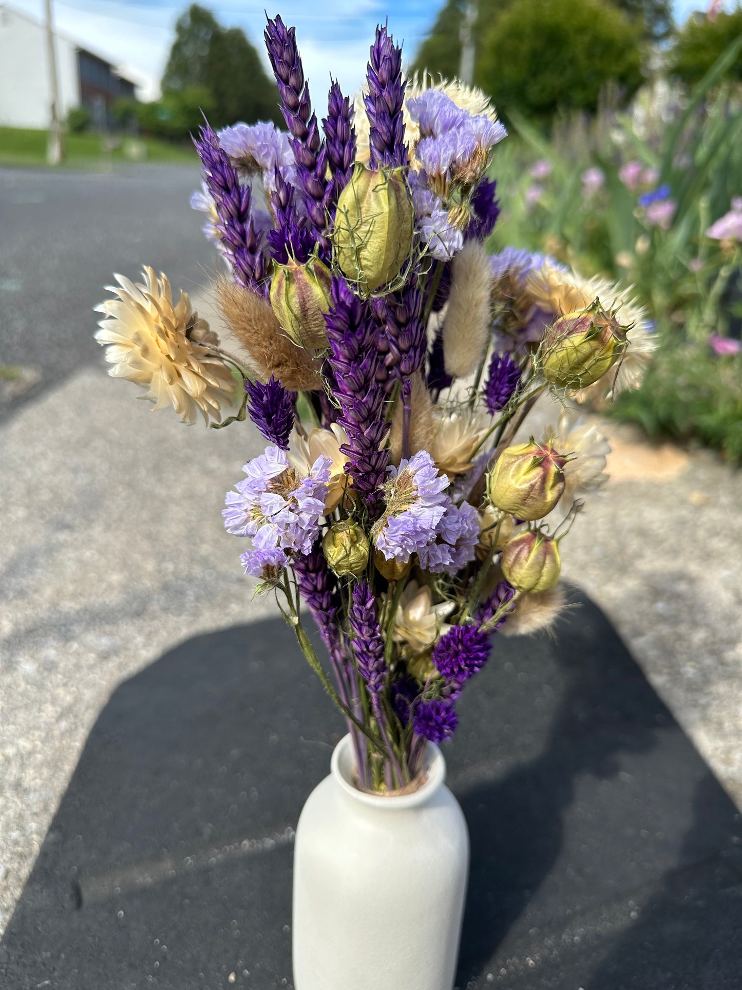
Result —
[[329, 353], [326, 365], [334, 378], [332, 394], [339, 403], [335, 422], [348, 435], [340, 449], [348, 456], [345, 470], [353, 478], [372, 517], [380, 507], [379, 490], [389, 462], [389, 450], [380, 449], [388, 433], [384, 421], [386, 390], [380, 328], [367, 302], [355, 295], [342, 278], [333, 278], [325, 317]]

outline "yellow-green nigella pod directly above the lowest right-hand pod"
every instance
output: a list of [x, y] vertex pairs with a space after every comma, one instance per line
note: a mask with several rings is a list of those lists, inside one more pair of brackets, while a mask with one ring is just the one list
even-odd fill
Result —
[[543, 519], [562, 497], [566, 463], [551, 443], [509, 446], [487, 476], [487, 497], [515, 519]]

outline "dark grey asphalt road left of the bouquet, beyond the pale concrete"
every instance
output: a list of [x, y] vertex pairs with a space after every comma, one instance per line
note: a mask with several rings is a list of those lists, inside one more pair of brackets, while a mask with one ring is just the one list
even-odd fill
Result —
[[91, 310], [114, 271], [133, 277], [147, 263], [187, 291], [207, 282], [213, 251], [188, 206], [198, 182], [197, 168], [170, 165], [0, 169], [0, 364], [41, 379], [0, 403], [0, 417], [99, 360]]

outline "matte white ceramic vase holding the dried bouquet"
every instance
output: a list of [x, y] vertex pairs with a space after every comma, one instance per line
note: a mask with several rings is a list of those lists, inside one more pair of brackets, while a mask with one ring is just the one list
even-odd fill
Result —
[[428, 743], [412, 794], [358, 791], [349, 736], [307, 800], [294, 848], [296, 990], [452, 990], [469, 836]]

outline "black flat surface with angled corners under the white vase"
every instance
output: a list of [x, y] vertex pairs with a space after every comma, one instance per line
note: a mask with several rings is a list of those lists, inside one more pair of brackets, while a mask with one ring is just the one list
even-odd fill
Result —
[[[446, 748], [472, 838], [458, 985], [739, 990], [739, 816], [577, 598], [556, 640], [498, 640]], [[3, 990], [290, 987], [293, 828], [342, 731], [277, 621], [123, 684], [0, 946]]]

